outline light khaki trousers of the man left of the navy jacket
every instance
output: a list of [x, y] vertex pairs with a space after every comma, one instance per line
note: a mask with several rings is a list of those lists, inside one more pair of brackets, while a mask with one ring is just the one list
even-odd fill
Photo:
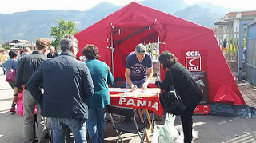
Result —
[[[34, 108], [37, 106], [37, 115], [34, 116]], [[45, 129], [46, 126], [44, 124], [43, 118], [41, 116], [41, 109], [38, 102], [34, 100], [29, 90], [24, 89], [23, 93], [23, 136], [25, 143], [32, 143], [34, 141], [35, 133], [34, 129], [36, 129], [36, 137], [38, 138], [38, 143], [44, 143], [45, 140]], [[34, 124], [36, 117], [37, 124]]]

